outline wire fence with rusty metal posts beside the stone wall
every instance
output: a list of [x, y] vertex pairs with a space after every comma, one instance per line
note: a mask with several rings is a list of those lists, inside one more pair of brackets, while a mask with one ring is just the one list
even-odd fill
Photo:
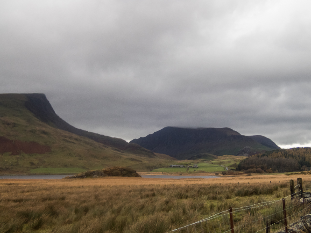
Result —
[[[302, 216], [311, 213], [311, 200], [306, 199], [308, 200], [306, 201], [304, 198], [293, 198], [294, 195], [299, 197], [299, 192], [280, 200], [267, 201], [240, 208], [230, 208], [169, 232], [269, 233], [285, 230], [287, 232], [286, 226], [289, 227], [290, 224], [300, 220]], [[311, 221], [311, 219], [308, 221]]]

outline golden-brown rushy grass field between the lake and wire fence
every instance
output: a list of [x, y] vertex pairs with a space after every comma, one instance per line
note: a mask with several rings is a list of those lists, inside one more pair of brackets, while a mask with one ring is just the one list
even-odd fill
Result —
[[311, 187], [311, 175], [301, 174], [213, 179], [2, 179], [0, 232], [163, 233], [229, 207], [288, 196], [287, 182], [296, 182], [298, 177], [305, 188]]

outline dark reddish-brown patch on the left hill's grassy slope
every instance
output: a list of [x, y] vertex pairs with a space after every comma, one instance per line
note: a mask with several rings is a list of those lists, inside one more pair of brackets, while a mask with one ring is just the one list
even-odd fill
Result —
[[26, 154], [44, 154], [51, 151], [49, 146], [40, 145], [37, 142], [25, 142], [20, 140], [10, 140], [0, 137], [0, 153], [11, 152], [17, 155], [22, 152]]

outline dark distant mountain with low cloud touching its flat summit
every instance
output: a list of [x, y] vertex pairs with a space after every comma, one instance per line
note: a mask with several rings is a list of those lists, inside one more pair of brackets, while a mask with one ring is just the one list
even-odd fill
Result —
[[264, 136], [244, 136], [230, 128], [165, 127], [130, 143], [177, 159], [195, 158], [204, 153], [249, 156], [279, 148]]

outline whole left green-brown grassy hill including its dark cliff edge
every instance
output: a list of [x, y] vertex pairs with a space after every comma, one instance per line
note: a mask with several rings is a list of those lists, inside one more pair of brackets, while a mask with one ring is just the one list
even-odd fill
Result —
[[0, 94], [0, 173], [79, 173], [111, 166], [149, 171], [167, 155], [63, 121], [44, 94]]

